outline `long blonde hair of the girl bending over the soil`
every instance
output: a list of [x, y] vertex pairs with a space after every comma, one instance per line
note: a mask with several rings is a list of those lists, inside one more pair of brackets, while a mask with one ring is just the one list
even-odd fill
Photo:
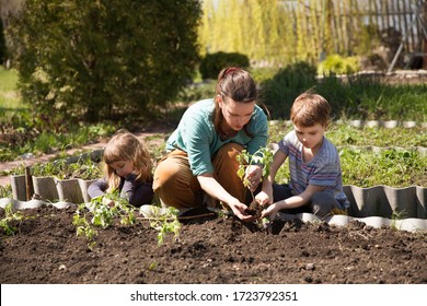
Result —
[[115, 162], [134, 163], [134, 170], [137, 181], [152, 180], [152, 161], [150, 154], [141, 139], [127, 130], [118, 130], [108, 141], [104, 150], [104, 172], [108, 180], [108, 191], [117, 189], [120, 183], [120, 177], [111, 166]]

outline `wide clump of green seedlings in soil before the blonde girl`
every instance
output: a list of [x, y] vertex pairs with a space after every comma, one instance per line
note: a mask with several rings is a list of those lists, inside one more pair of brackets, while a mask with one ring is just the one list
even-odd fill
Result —
[[[88, 221], [90, 215], [91, 222]], [[135, 208], [127, 199], [122, 198], [118, 191], [113, 191], [92, 199], [88, 208], [86, 203], [81, 203], [74, 212], [72, 224], [77, 228], [77, 235], [85, 236], [89, 240], [88, 247], [92, 248], [97, 235], [95, 227], [106, 228], [114, 225], [117, 219], [122, 225], [135, 224]]]

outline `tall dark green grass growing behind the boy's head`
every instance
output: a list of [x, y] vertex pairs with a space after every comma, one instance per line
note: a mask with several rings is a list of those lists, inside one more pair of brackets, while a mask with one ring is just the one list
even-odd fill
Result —
[[261, 98], [273, 119], [288, 119], [295, 98], [305, 91], [324, 96], [333, 118], [426, 121], [427, 85], [390, 85], [377, 76], [335, 74], [316, 78], [316, 68], [297, 62], [261, 83]]

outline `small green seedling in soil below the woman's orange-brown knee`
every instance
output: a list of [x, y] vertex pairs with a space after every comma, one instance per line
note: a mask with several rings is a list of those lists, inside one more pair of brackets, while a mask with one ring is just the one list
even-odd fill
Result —
[[150, 226], [158, 231], [158, 245], [164, 243], [168, 234], [173, 234], [176, 239], [180, 236], [181, 223], [177, 219], [180, 211], [173, 207], [159, 208], [151, 205], [150, 208]]

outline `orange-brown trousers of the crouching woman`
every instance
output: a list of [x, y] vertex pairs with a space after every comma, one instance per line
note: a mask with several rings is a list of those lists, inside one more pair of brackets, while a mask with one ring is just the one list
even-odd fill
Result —
[[[214, 178], [234, 198], [245, 202], [246, 188], [236, 175], [236, 156], [243, 145], [228, 143], [214, 156]], [[203, 204], [204, 191], [193, 175], [187, 153], [174, 150], [164, 156], [154, 170], [153, 190], [168, 207], [193, 208]]]

